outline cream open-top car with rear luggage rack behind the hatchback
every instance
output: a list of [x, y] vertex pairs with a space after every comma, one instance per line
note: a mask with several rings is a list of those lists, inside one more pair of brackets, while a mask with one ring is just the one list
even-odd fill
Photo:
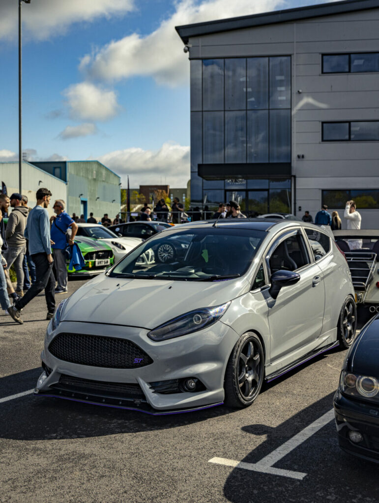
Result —
[[333, 234], [351, 271], [358, 318], [367, 321], [379, 312], [379, 230], [334, 230]]

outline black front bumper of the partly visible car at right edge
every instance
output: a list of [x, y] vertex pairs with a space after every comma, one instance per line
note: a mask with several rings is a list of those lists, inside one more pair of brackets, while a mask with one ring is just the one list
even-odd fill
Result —
[[[379, 463], [379, 404], [352, 400], [339, 390], [334, 395], [333, 403], [341, 449]], [[363, 440], [353, 443], [348, 437], [349, 431], [360, 432]]]

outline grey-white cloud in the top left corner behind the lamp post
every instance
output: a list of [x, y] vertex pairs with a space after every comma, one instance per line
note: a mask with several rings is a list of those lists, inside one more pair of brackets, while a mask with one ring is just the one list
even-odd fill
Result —
[[[0, 38], [17, 38], [18, 2], [0, 0]], [[72, 23], [93, 22], [101, 17], [124, 15], [134, 10], [134, 0], [32, 0], [22, 4], [26, 36], [43, 40], [65, 33]]]

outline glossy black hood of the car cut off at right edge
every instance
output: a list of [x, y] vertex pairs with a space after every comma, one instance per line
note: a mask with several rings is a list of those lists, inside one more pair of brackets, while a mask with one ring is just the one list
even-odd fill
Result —
[[379, 317], [364, 330], [349, 352], [354, 374], [379, 378]]

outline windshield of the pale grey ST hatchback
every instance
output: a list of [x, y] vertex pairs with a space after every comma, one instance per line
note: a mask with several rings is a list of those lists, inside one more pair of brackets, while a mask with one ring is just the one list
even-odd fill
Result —
[[236, 228], [164, 231], [132, 250], [111, 277], [217, 281], [243, 276], [266, 232]]

